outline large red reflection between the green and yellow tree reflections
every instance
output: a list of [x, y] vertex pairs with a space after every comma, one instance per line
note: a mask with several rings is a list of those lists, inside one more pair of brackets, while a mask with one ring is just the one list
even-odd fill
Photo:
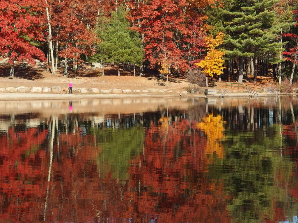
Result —
[[138, 216], [136, 222], [148, 216], [156, 222], [230, 222], [223, 181], [207, 178], [206, 139], [194, 126], [187, 120], [167, 128], [152, 123], [147, 131], [144, 153], [130, 168], [130, 186], [139, 192], [126, 192], [137, 207], [129, 214]]

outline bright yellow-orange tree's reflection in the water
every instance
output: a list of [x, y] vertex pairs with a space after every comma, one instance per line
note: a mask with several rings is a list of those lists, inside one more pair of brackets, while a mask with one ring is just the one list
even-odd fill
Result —
[[200, 128], [207, 135], [207, 145], [205, 154], [216, 153], [216, 156], [223, 158], [224, 148], [221, 141], [224, 138], [224, 120], [221, 115], [214, 116], [209, 114], [203, 118], [201, 123], [197, 124], [197, 128]]

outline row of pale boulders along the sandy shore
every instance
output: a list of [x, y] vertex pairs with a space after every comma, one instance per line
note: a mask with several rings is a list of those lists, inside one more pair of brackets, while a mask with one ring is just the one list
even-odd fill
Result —
[[[69, 92], [68, 88], [61, 88], [60, 86], [53, 86], [53, 87], [6, 87], [6, 88], [0, 88], [0, 92], [9, 92], [9, 93], [15, 93], [15, 92], [22, 92], [22, 93], [67, 93]], [[104, 93], [104, 94], [122, 94], [122, 93], [172, 93], [172, 90], [167, 90], [167, 89], [146, 89], [146, 90], [131, 90], [131, 89], [118, 89], [118, 88], [114, 88], [114, 89], [104, 89], [104, 90], [100, 90], [98, 88], [73, 88], [72, 89], [73, 93], [92, 93], [92, 94], [100, 94], [100, 93]], [[175, 93], [180, 93], [180, 92], [175, 92]], [[186, 91], [182, 91], [182, 94], [187, 94]]]

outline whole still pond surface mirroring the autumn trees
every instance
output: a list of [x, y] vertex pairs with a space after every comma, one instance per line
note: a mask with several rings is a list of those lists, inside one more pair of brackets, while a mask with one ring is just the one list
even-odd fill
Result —
[[0, 102], [0, 222], [297, 222], [298, 98]]

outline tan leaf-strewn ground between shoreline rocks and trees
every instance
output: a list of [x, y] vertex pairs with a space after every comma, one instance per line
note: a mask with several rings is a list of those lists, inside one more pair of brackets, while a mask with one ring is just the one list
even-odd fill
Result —
[[[52, 74], [47, 71], [44, 67], [28, 66], [23, 67], [21, 63], [17, 62], [15, 65], [15, 78], [8, 79], [10, 74], [10, 65], [0, 64], [0, 87], [52, 87], [60, 86], [61, 88], [67, 88], [69, 82], [73, 83], [73, 87], [81, 88], [98, 88], [98, 89], [138, 89], [138, 90], [172, 90], [173, 92], [185, 91], [188, 86], [187, 77], [180, 76], [175, 77], [169, 76], [169, 86], [167, 87], [167, 81], [159, 79], [159, 75], [152, 71], [147, 70], [144, 72], [142, 77], [139, 77], [138, 70], [134, 77], [133, 68], [125, 67], [123, 71], [120, 69], [120, 76], [118, 76], [117, 66], [106, 66], [105, 76], [101, 76], [102, 69], [92, 69], [89, 64], [81, 65], [81, 69], [77, 73], [70, 70], [69, 78], [63, 76], [64, 66], [58, 67], [56, 74]], [[222, 78], [222, 82], [225, 82], [226, 78]], [[268, 86], [274, 85], [275, 81], [272, 76], [257, 77], [258, 85]], [[213, 82], [217, 82], [218, 78], [209, 79], [209, 87], [214, 87]], [[237, 83], [237, 80], [232, 79], [231, 83]], [[226, 83], [225, 83], [226, 84]], [[243, 88], [239, 87], [226, 87], [225, 84], [222, 86], [216, 86], [216, 88], [229, 88], [229, 91], [242, 91]], [[243, 84], [253, 86], [253, 76], [248, 76], [248, 81], [245, 81], [243, 77]], [[204, 89], [206, 87], [202, 87]]]

